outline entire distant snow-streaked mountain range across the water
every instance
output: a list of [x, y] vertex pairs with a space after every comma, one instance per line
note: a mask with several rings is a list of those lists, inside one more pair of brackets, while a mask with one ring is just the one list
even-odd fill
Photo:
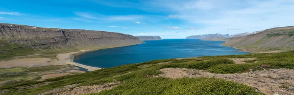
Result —
[[229, 34], [205, 34], [205, 35], [196, 35], [196, 36], [189, 36], [186, 39], [203, 39], [203, 38], [234, 38], [234, 37], [242, 37], [246, 35], [251, 35], [251, 34], [256, 34], [261, 31], [253, 32], [253, 33], [240, 33], [240, 34], [234, 34], [234, 35], [229, 35]]

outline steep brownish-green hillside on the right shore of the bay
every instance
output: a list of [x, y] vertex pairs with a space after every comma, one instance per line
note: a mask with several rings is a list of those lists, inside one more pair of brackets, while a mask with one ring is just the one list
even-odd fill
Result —
[[294, 50], [294, 26], [267, 29], [257, 34], [230, 38], [225, 46], [250, 52], [282, 52]]

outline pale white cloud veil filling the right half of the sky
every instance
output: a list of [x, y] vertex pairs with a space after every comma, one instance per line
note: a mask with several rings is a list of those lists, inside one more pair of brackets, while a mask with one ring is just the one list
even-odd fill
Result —
[[156, 1], [162, 1], [156, 7], [177, 14], [181, 26], [195, 25], [203, 31], [197, 34], [254, 32], [294, 22], [294, 14], [289, 14], [294, 13], [294, 0]]

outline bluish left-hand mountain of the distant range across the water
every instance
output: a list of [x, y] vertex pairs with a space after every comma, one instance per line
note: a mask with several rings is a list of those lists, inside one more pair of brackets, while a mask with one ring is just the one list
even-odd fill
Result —
[[203, 38], [229, 38], [230, 35], [226, 34], [205, 34], [205, 35], [196, 35], [196, 36], [189, 36], [186, 39], [203, 39]]

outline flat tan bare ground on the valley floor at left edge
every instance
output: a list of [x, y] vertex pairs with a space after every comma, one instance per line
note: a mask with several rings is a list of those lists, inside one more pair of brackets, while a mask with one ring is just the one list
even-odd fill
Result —
[[49, 66], [52, 65], [50, 63], [52, 61], [51, 58], [25, 58], [25, 59], [15, 59], [10, 61], [1, 61], [1, 68], [13, 68], [13, 67], [41, 67], [41, 66]]

